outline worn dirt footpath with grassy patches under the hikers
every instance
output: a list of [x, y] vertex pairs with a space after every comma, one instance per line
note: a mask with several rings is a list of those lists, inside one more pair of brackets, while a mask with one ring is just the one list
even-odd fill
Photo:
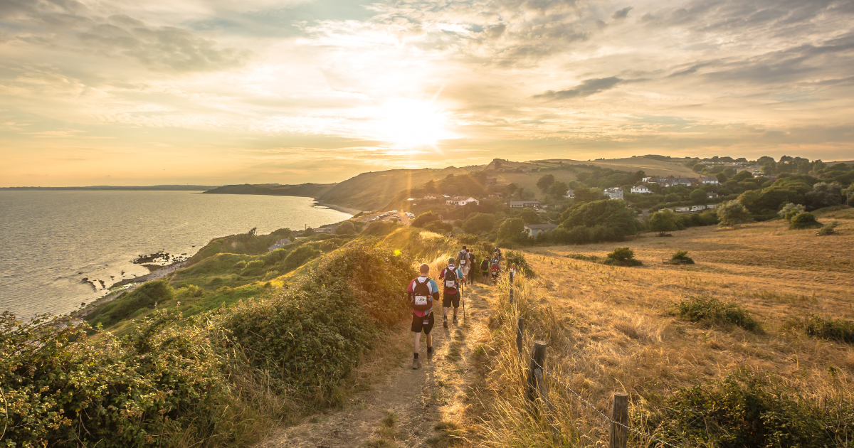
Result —
[[[471, 353], [487, 334], [493, 287], [465, 288], [467, 318], [442, 328], [441, 311], [433, 328], [434, 355], [426, 359], [421, 339], [421, 369], [412, 369], [412, 353], [401, 358], [388, 377], [357, 393], [340, 410], [309, 416], [290, 428], [278, 428], [256, 448], [437, 447], [459, 433], [469, 385]], [[411, 337], [410, 332], [407, 336]]]

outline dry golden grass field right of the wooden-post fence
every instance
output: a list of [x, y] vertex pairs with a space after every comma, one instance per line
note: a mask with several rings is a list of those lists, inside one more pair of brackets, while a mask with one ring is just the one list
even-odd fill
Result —
[[[548, 343], [547, 369], [600, 410], [611, 393], [630, 395], [633, 422], [681, 387], [722, 378], [737, 369], [781, 375], [810, 399], [852, 399], [854, 346], [799, 334], [783, 325], [787, 317], [813, 313], [854, 319], [854, 213], [825, 213], [839, 220], [839, 235], [787, 230], [775, 220], [740, 229], [715, 227], [646, 234], [622, 243], [539, 247], [525, 251], [538, 274], [517, 282], [517, 300], [506, 293], [483, 340], [488, 361], [473, 393], [470, 423], [484, 439], [476, 445], [560, 445], [547, 426], [531, 422], [524, 402], [524, 361], [515, 350], [516, 317], [525, 317], [525, 346]], [[631, 247], [639, 267], [611, 267], [570, 259]], [[677, 249], [695, 265], [664, 265]], [[505, 280], [502, 289], [506, 291]], [[745, 307], [759, 331], [691, 323], [672, 313], [693, 297], [717, 298]], [[547, 381], [561, 433], [573, 445], [607, 442], [605, 421]], [[539, 425], [539, 426], [537, 426]], [[642, 427], [642, 423], [640, 424]], [[650, 430], [650, 428], [646, 428]], [[648, 446], [634, 437], [630, 445]]]

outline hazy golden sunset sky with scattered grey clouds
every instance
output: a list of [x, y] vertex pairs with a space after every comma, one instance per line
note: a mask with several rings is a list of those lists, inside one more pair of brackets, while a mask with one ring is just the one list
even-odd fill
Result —
[[0, 186], [854, 159], [854, 0], [2, 0]]

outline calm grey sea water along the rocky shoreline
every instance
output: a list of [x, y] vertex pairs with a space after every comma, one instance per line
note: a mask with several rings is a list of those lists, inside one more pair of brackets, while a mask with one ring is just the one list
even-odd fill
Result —
[[[331, 224], [350, 215], [310, 198], [193, 191], [0, 191], [0, 311], [67, 313], [148, 269], [166, 251], [189, 257], [211, 239]], [[95, 282], [84, 282], [88, 278]]]

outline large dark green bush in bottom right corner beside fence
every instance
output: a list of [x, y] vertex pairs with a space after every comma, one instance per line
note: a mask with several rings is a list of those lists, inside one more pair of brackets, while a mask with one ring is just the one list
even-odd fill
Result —
[[851, 446], [851, 403], [835, 397], [819, 401], [807, 393], [775, 376], [740, 369], [721, 380], [681, 389], [648, 426], [659, 439], [682, 446]]

